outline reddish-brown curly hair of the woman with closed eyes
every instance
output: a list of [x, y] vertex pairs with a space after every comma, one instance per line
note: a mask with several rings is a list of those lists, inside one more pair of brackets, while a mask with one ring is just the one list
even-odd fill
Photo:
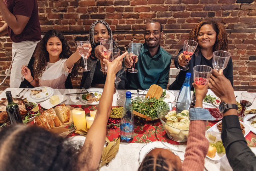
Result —
[[[200, 30], [200, 28], [203, 25], [209, 24], [212, 26], [214, 31], [217, 33], [216, 35], [216, 41], [214, 44], [213, 51], [227, 51], [228, 50], [228, 35], [224, 28], [224, 26], [221, 23], [210, 21], [210, 20], [203, 20], [190, 31], [188, 39], [197, 41], [197, 35]], [[200, 50], [200, 46], [197, 46], [197, 49], [195, 50], [195, 55], [198, 55]]]

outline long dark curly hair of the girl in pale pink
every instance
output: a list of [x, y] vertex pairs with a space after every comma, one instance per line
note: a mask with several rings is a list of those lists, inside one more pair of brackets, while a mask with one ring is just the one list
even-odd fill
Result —
[[[46, 70], [47, 62], [49, 62], [49, 53], [46, 50], [47, 41], [52, 37], [57, 37], [62, 43], [62, 52], [59, 54], [60, 59], [67, 59], [72, 54], [67, 40], [64, 38], [63, 34], [57, 30], [49, 30], [42, 40], [39, 43], [39, 46], [36, 48], [35, 53], [35, 62], [33, 64], [34, 78], [39, 78], [42, 76], [42, 73]], [[76, 78], [78, 75], [78, 65], [74, 63], [72, 72], [69, 74], [71, 78]]]

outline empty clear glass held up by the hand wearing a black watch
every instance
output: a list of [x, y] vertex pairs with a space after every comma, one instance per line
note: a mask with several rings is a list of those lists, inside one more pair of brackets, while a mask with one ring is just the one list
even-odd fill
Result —
[[215, 51], [212, 58], [212, 67], [217, 71], [227, 67], [231, 53], [227, 51]]

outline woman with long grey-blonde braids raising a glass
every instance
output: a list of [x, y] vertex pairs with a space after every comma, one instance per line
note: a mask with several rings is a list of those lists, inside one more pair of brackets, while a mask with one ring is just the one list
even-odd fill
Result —
[[[106, 81], [106, 74], [100, 71], [104, 68], [105, 63], [103, 62], [104, 54], [102, 51], [102, 46], [100, 46], [99, 41], [103, 39], [113, 40], [113, 48], [119, 49], [115, 44], [115, 40], [112, 36], [112, 31], [104, 20], [97, 20], [92, 23], [90, 27], [89, 41], [92, 46], [91, 56], [87, 59], [87, 66], [91, 68], [89, 72], [83, 72], [83, 77], [81, 80], [80, 88], [84, 87], [88, 89], [89, 87], [103, 88]], [[122, 55], [122, 52], [121, 54]], [[83, 65], [83, 58], [81, 58], [81, 65]], [[126, 73], [124, 68], [120, 69], [116, 73], [116, 77], [120, 78], [121, 81], [115, 83], [115, 89], [125, 89], [125, 84], [127, 82]]]

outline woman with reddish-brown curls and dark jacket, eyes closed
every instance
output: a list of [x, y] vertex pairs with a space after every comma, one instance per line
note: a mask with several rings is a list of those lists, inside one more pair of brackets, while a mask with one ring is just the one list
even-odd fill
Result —
[[[190, 59], [188, 64], [189, 69], [186, 71], [181, 70], [176, 76], [176, 80], [169, 86], [169, 90], [180, 90], [182, 84], [185, 80], [186, 73], [191, 73], [191, 78], [193, 78], [193, 67], [196, 65], [207, 65], [212, 67], [212, 57], [214, 51], [227, 51], [228, 50], [228, 38], [225, 28], [222, 24], [203, 20], [198, 23], [189, 33], [189, 40], [194, 40], [198, 42], [197, 49], [195, 53], [190, 57], [186, 58], [183, 55], [183, 50], [181, 49], [175, 58], [175, 67], [178, 65], [184, 66]], [[233, 86], [233, 63], [232, 58], [229, 59], [227, 67], [223, 70], [224, 76], [231, 82]], [[190, 84], [192, 85], [193, 79], [190, 79]], [[192, 86], [192, 90], [194, 87]]]

